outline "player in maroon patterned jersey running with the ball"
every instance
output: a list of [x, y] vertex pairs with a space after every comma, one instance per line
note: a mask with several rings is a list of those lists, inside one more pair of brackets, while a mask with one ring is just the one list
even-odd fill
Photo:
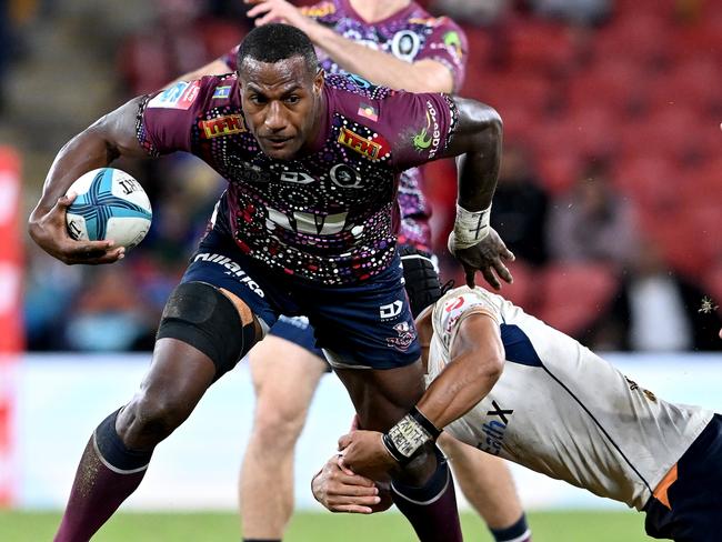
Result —
[[[66, 229], [72, 199], [63, 194], [82, 173], [118, 157], [184, 151], [229, 181], [168, 300], [140, 391], [88, 443], [59, 542], [88, 540], [112, 515], [154, 446], [280, 314], [309, 318], [361, 426], [387, 430], [418, 401], [420, 348], [395, 250], [400, 171], [459, 157], [450, 247], [470, 283], [477, 271], [511, 280], [503, 260], [512, 254], [489, 227], [502, 132], [493, 109], [325, 78], [308, 37], [287, 24], [257, 28], [238, 56], [237, 74], [136, 98], [73, 138], [30, 217], [50, 254], [111, 263], [122, 249], [74, 241]], [[397, 504], [422, 541], [461, 540], [448, 466], [432, 443], [424, 448], [395, 476], [408, 495]]]

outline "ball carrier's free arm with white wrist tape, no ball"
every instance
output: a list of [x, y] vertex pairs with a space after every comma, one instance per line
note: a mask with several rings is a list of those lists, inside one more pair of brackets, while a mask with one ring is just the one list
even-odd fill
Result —
[[474, 285], [477, 271], [499, 290], [512, 282], [504, 261], [513, 261], [499, 234], [489, 225], [491, 201], [497, 189], [502, 151], [502, 121], [491, 107], [464, 98], [454, 98], [459, 119], [454, 138], [443, 157], [457, 157], [459, 195], [457, 220], [449, 235], [449, 251], [461, 262], [467, 284]]

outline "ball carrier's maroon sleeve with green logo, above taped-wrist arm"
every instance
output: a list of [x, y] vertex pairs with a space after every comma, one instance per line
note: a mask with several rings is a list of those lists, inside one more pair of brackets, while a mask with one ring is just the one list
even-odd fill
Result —
[[457, 107], [437, 92], [391, 92], [381, 103], [381, 124], [388, 134], [392, 165], [398, 171], [439, 158], [451, 143]]

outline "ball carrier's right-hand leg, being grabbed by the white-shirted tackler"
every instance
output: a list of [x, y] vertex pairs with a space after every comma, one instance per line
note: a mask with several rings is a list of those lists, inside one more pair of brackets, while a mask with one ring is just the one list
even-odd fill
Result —
[[[349, 391], [360, 426], [391, 429], [424, 391], [421, 348], [400, 259], [362, 285], [315, 291], [309, 299], [304, 312]], [[451, 473], [434, 445], [424, 446], [394, 474], [392, 489], [397, 506], [421, 541], [461, 540]]]

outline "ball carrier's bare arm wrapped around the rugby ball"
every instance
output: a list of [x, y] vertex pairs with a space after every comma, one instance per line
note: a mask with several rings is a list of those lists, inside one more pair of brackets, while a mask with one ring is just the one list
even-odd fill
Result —
[[80, 175], [118, 157], [148, 157], [136, 138], [139, 101], [129, 101], [76, 136], [50, 167], [28, 231], [46, 252], [64, 263], [112, 263], [123, 257], [124, 249], [114, 248], [112, 241], [76, 241], [68, 234], [66, 212], [74, 198], [66, 192]]

